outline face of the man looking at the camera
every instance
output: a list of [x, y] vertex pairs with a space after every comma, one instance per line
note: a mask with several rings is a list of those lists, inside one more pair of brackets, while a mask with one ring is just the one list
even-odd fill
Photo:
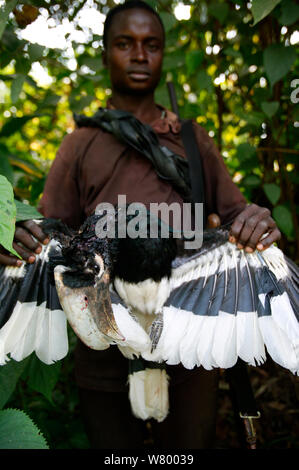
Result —
[[142, 9], [118, 13], [103, 54], [112, 89], [123, 94], [152, 93], [161, 76], [163, 45], [162, 26], [152, 13]]

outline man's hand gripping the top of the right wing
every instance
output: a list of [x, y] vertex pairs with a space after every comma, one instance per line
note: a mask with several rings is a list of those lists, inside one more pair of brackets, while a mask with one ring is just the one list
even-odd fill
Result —
[[255, 249], [265, 250], [280, 238], [281, 233], [269, 209], [250, 204], [234, 220], [229, 241], [236, 243], [240, 249], [244, 248], [247, 253], [252, 253]]

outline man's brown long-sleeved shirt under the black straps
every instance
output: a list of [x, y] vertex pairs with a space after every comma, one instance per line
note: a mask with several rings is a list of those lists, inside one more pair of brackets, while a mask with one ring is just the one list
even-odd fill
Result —
[[[151, 123], [160, 144], [185, 157], [180, 123], [167, 111], [164, 118]], [[202, 157], [205, 180], [206, 213], [218, 213], [222, 223], [230, 222], [246, 206], [232, 182], [214, 142], [194, 122]], [[160, 179], [151, 162], [137, 151], [119, 143], [98, 128], [80, 128], [67, 135], [49, 172], [40, 210], [46, 217], [59, 218], [79, 227], [100, 202], [117, 203], [119, 194], [127, 203], [182, 203], [180, 195]], [[93, 351], [81, 341], [75, 352], [79, 386], [104, 391], [127, 391], [128, 362], [116, 347]], [[189, 374], [182, 366], [168, 366], [171, 383], [185, 380]]]

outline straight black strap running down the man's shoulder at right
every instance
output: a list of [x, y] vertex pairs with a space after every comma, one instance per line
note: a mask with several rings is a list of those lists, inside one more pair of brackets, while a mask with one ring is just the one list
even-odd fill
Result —
[[192, 199], [193, 202], [203, 203], [204, 222], [206, 222], [202, 159], [191, 119], [182, 121], [181, 136], [189, 163]]

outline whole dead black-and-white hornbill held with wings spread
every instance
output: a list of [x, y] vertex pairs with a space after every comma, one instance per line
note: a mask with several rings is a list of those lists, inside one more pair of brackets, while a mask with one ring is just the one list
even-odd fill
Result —
[[51, 241], [36, 262], [0, 268], [0, 364], [33, 351], [46, 364], [62, 359], [68, 321], [88, 347], [145, 361], [129, 375], [131, 406], [158, 421], [168, 413], [165, 364], [256, 366], [267, 351], [299, 373], [299, 270], [281, 250], [248, 254], [228, 227], [205, 231], [196, 250], [161, 234], [99, 238], [100, 217], [78, 231], [43, 219]]

